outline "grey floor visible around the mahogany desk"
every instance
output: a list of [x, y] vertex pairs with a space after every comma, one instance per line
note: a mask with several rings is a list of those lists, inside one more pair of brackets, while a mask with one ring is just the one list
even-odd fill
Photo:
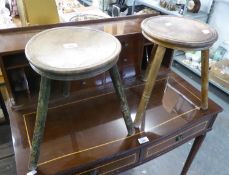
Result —
[[[200, 88], [200, 78], [176, 64], [173, 70]], [[188, 75], [188, 76], [187, 76]], [[207, 135], [188, 175], [229, 174], [229, 95], [210, 86], [210, 98], [224, 108], [213, 130]], [[178, 175], [191, 148], [192, 141], [144, 165], [121, 175]], [[8, 125], [0, 125], [0, 175], [16, 175], [11, 133]]]

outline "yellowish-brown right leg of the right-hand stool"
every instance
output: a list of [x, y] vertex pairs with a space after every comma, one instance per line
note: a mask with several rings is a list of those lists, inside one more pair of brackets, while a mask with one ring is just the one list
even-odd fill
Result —
[[208, 109], [209, 49], [201, 51], [201, 109]]

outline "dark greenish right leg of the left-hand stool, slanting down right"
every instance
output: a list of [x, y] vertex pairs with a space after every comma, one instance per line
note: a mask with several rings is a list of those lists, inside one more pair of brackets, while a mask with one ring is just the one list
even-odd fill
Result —
[[113, 66], [109, 70], [109, 72], [110, 72], [110, 76], [111, 76], [116, 94], [117, 94], [119, 101], [121, 103], [122, 115], [123, 115], [124, 121], [126, 123], [128, 135], [132, 135], [132, 134], [134, 134], [133, 122], [132, 122], [132, 119], [130, 116], [130, 110], [129, 110], [128, 103], [126, 100], [126, 95], [125, 95], [125, 92], [124, 92], [124, 89], [123, 89], [123, 86], [121, 83], [121, 78], [120, 78], [120, 75], [118, 72], [117, 65]]

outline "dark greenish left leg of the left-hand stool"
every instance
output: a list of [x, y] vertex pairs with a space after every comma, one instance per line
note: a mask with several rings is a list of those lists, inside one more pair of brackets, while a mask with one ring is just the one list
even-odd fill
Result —
[[40, 92], [37, 104], [36, 123], [34, 127], [32, 150], [30, 153], [29, 169], [35, 170], [40, 155], [40, 146], [43, 139], [46, 116], [48, 111], [48, 100], [50, 95], [51, 80], [41, 77]]

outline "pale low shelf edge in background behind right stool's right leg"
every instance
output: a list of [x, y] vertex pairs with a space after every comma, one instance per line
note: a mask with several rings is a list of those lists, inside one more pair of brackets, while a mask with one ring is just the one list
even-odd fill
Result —
[[[193, 73], [195, 73], [196, 75], [201, 77], [201, 73], [200, 70], [197, 68], [193, 68], [190, 65], [186, 64], [183, 60], [184, 60], [185, 55], [178, 55], [178, 56], [174, 56], [173, 57], [173, 61], [181, 64], [182, 66], [184, 66], [185, 68], [189, 69], [190, 71], [192, 71]], [[229, 95], [229, 90], [226, 89], [225, 87], [223, 87], [221, 84], [215, 82], [214, 80], [212, 80], [211, 78], [209, 78], [209, 82], [216, 86], [217, 88], [219, 88], [220, 90], [224, 91], [226, 94]]]

